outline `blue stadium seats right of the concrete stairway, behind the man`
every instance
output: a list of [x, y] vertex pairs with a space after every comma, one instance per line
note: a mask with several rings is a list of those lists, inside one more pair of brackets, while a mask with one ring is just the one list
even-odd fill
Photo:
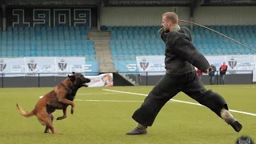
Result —
[[[246, 46], [256, 48], [256, 26], [208, 26]], [[136, 55], [164, 54], [165, 44], [159, 37], [160, 26], [106, 26], [112, 32], [110, 49], [116, 69], [126, 71], [127, 63], [136, 63]], [[189, 27], [188, 27], [189, 28]], [[194, 46], [205, 55], [253, 54], [220, 34], [194, 26], [191, 30]], [[123, 64], [124, 66], [119, 66]]]

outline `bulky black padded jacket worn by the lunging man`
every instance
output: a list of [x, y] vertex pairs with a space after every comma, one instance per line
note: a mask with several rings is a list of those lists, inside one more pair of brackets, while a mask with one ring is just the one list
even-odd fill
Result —
[[161, 34], [166, 43], [166, 73], [179, 75], [194, 71], [194, 66], [205, 72], [210, 64], [192, 44], [190, 30], [182, 26], [180, 30]]

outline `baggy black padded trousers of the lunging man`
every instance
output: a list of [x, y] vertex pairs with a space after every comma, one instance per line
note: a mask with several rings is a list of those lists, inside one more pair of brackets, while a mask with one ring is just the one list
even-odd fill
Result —
[[206, 90], [196, 71], [193, 71], [182, 75], [165, 74], [150, 91], [142, 106], [134, 112], [132, 118], [143, 126], [152, 126], [162, 106], [181, 91], [210, 108], [219, 117], [222, 108], [228, 110], [225, 99], [212, 90]]

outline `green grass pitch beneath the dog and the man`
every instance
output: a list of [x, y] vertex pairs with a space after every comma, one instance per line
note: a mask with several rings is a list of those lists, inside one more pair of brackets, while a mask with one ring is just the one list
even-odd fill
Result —
[[[222, 94], [231, 110], [256, 114], [256, 86], [206, 86]], [[55, 129], [63, 134], [44, 134], [42, 126], [34, 116], [22, 117], [16, 103], [24, 110], [32, 110], [39, 96], [52, 88], [5, 88], [0, 89], [0, 143], [110, 143], [110, 144], [151, 144], [151, 143], [235, 143], [241, 135], [249, 135], [256, 141], [256, 116], [234, 113], [243, 125], [236, 133], [221, 118], [205, 106], [190, 105], [182, 102], [168, 102], [162, 108], [154, 125], [146, 135], [126, 135], [137, 123], [131, 115], [144, 100], [145, 96], [122, 94], [108, 90], [148, 94], [152, 86], [114, 86], [82, 88], [75, 98], [74, 114], [62, 121], [62, 110], [54, 113]], [[195, 102], [183, 93], [176, 100]], [[197, 103], [197, 102], [196, 102]]]

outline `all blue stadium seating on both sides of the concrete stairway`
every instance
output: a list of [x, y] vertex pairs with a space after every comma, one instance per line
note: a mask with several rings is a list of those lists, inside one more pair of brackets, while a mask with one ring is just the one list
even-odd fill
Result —
[[[256, 48], [256, 26], [209, 27], [246, 46]], [[112, 34], [109, 44], [115, 69], [126, 72], [127, 64], [136, 63], [136, 55], [164, 54], [165, 44], [159, 37], [159, 28], [160, 26], [106, 26], [106, 30], [110, 30]], [[85, 56], [86, 64], [96, 62], [98, 65], [94, 42], [87, 38], [87, 32], [83, 26], [9, 26], [6, 31], [0, 31], [0, 56]], [[194, 46], [202, 54], [252, 54], [238, 43], [200, 26], [194, 26], [191, 32]]]

